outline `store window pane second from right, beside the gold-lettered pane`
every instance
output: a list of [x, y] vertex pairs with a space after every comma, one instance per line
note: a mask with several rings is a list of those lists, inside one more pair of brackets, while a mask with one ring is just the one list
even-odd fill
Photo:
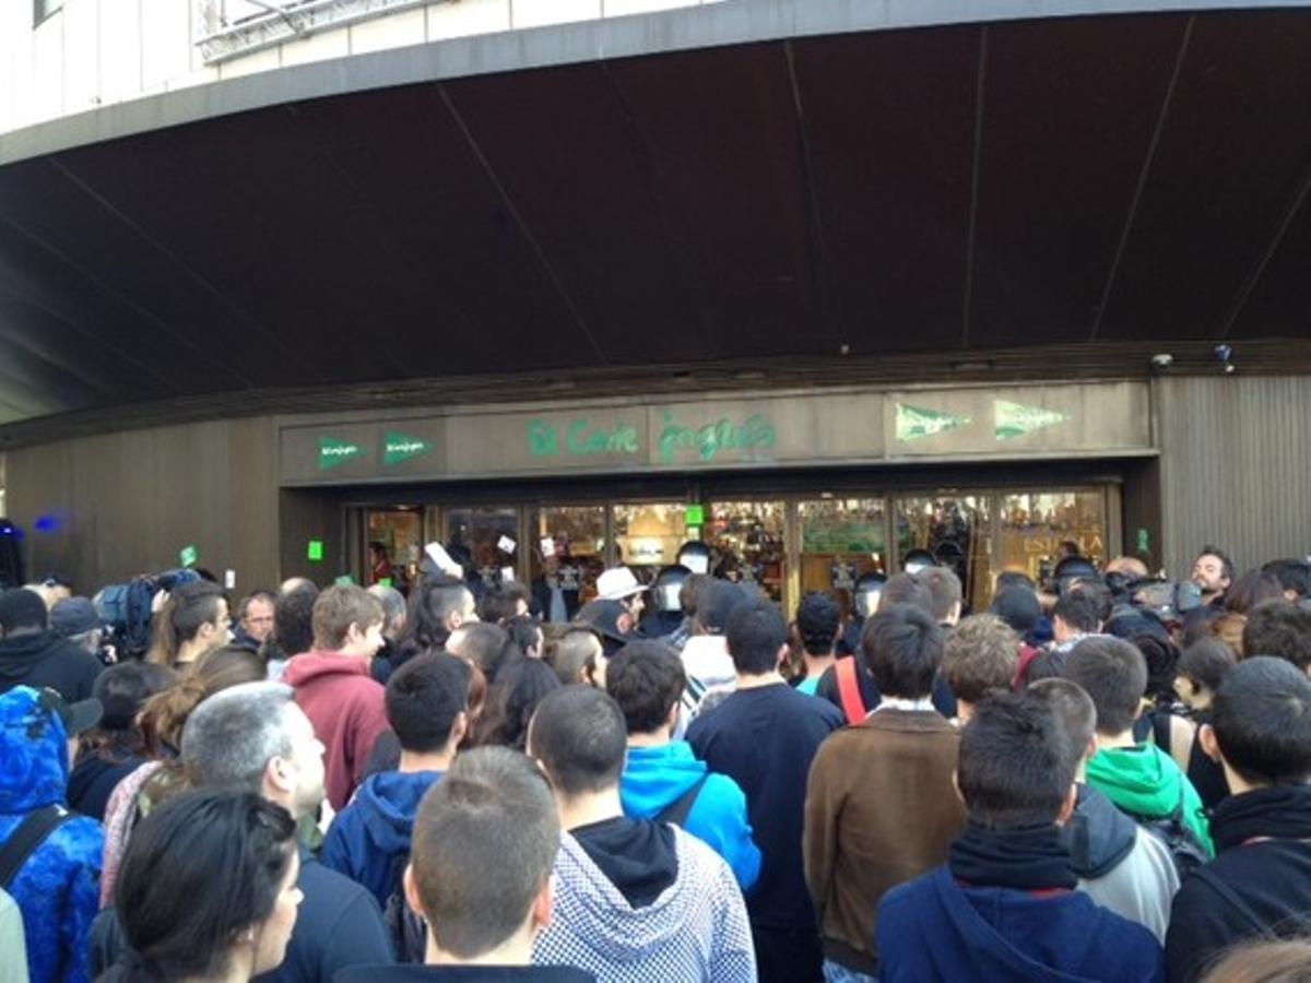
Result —
[[961, 578], [965, 603], [986, 611], [992, 599], [992, 523], [988, 495], [898, 498], [897, 554], [926, 549]]

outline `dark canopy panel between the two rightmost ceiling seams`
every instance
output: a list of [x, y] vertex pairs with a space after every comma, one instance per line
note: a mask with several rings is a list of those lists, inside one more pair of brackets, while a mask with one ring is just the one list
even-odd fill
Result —
[[1311, 160], [1311, 17], [1197, 17], [1103, 338], [1222, 330]]

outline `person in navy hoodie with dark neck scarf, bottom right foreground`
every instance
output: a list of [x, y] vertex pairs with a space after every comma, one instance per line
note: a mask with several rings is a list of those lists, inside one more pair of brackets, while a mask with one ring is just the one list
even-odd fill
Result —
[[947, 864], [878, 906], [880, 979], [1163, 980], [1160, 942], [1075, 890], [1058, 823], [1078, 789], [1068, 738], [1033, 693], [982, 701], [961, 733], [969, 811]]

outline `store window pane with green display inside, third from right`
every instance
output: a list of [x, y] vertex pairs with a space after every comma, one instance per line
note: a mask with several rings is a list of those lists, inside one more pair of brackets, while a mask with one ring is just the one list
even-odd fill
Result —
[[851, 611], [851, 588], [867, 573], [888, 571], [882, 498], [821, 498], [797, 503], [801, 592], [831, 591]]

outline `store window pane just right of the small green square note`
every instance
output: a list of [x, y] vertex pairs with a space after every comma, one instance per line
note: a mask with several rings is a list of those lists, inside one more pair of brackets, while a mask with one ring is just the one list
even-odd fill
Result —
[[758, 583], [783, 603], [788, 560], [783, 502], [716, 502], [707, 514], [703, 539], [711, 547], [711, 569], [734, 582]]

